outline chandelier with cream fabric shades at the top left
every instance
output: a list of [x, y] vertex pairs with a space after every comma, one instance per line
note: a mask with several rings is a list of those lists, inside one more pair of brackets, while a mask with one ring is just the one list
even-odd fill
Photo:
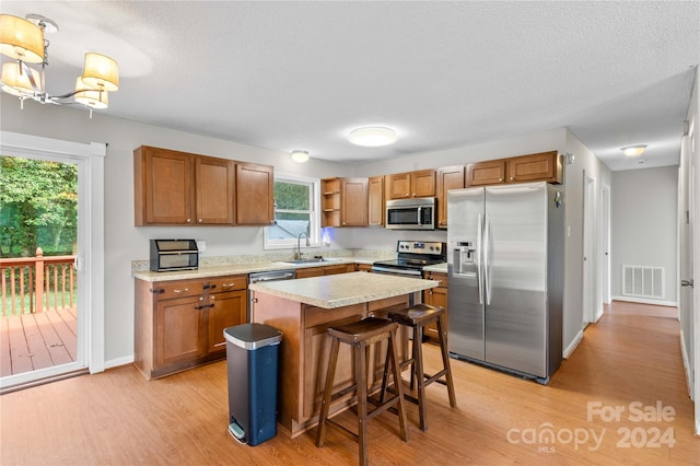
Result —
[[[90, 108], [107, 108], [107, 92], [119, 89], [117, 62], [94, 53], [85, 54], [83, 73], [75, 81], [75, 90], [60, 95], [46, 91], [46, 67], [49, 42], [45, 34], [58, 32], [58, 25], [40, 14], [27, 14], [26, 20], [0, 14], [0, 54], [16, 60], [2, 63], [2, 91], [20, 97], [21, 106], [31, 98], [42, 104], [81, 104]], [[27, 63], [40, 63], [40, 70]]]

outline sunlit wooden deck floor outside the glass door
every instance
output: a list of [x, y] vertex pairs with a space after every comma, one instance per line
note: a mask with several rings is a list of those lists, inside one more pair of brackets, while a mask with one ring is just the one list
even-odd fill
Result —
[[75, 308], [0, 317], [0, 376], [75, 361]]

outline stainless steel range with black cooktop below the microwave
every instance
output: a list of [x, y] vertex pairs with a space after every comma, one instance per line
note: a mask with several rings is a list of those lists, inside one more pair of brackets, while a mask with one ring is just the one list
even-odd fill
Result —
[[434, 241], [399, 241], [398, 257], [372, 264], [375, 273], [397, 273], [420, 278], [423, 267], [447, 261], [446, 243]]

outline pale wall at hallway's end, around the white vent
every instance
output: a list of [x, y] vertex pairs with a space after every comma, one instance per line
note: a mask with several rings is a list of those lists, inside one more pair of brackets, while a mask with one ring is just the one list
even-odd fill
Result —
[[[611, 293], [622, 296], [622, 266], [665, 269], [665, 296], [676, 305], [678, 167], [612, 173]], [[643, 301], [643, 300], [642, 300]]]

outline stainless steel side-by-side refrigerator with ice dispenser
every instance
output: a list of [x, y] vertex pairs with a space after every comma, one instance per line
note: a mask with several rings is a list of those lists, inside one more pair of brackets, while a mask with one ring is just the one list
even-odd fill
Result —
[[447, 193], [453, 358], [549, 382], [562, 354], [562, 200], [547, 183]]

